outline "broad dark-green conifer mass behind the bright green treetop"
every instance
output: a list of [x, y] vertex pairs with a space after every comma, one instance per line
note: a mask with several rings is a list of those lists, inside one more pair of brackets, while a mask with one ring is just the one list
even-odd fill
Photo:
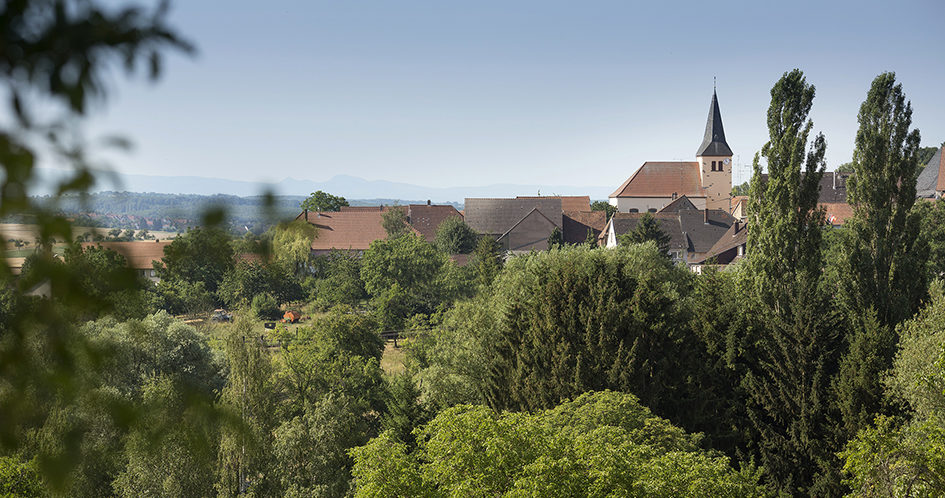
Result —
[[[701, 397], [695, 369], [703, 353], [685, 300], [691, 273], [658, 255], [647, 243], [511, 259], [490, 295], [472, 305], [479, 310], [463, 309], [471, 323], [462, 327], [475, 339], [457, 345], [471, 357], [454, 361], [479, 364], [460, 372], [483, 376], [480, 392], [495, 409], [548, 408], [614, 389], [683, 426], [700, 423], [704, 414], [692, 408]], [[466, 383], [435, 368], [423, 375]]]

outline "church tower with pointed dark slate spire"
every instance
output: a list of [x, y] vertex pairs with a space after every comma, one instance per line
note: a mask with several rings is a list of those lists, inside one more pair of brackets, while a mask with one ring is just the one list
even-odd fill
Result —
[[705, 192], [706, 209], [723, 209], [731, 212], [732, 201], [732, 149], [725, 142], [722, 128], [722, 113], [719, 99], [712, 89], [709, 104], [709, 119], [705, 123], [705, 137], [696, 152], [699, 160], [699, 178]]

